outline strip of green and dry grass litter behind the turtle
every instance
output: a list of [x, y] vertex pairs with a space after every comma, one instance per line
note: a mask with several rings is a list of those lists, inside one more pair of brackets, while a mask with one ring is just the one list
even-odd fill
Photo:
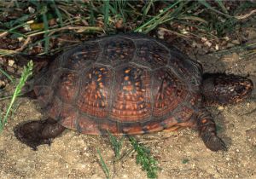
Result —
[[[34, 53], [38, 55], [54, 54], [68, 43], [80, 43], [79, 39], [91, 38], [92, 34], [113, 34], [120, 30], [155, 33], [165, 29], [167, 34], [198, 43], [201, 38], [213, 41], [242, 26], [252, 26], [254, 21], [245, 23], [236, 15], [255, 8], [250, 1], [229, 3], [221, 0], [49, 0], [42, 3], [15, 1], [8, 7], [6, 4], [9, 3], [0, 3], [0, 19], [3, 19], [0, 21], [0, 37], [19, 38], [25, 42], [18, 52], [31, 54], [31, 49], [35, 49]], [[28, 7], [34, 10], [27, 11]], [[15, 8], [26, 13], [13, 13]], [[65, 39], [67, 36], [78, 40], [69, 41]], [[28, 39], [30, 43], [26, 43]], [[68, 43], [63, 43], [65, 40]], [[0, 49], [0, 55], [15, 53], [17, 49]]]

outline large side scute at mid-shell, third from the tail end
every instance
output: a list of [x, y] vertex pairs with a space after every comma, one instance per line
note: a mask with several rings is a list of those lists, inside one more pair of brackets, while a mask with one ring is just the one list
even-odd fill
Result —
[[110, 118], [123, 122], [149, 118], [151, 115], [150, 74], [137, 66], [116, 71]]

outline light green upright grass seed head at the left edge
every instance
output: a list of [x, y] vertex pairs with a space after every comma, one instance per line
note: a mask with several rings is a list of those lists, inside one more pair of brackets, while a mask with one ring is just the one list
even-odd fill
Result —
[[0, 116], [0, 132], [3, 131], [3, 127], [7, 123], [7, 120], [9, 118], [9, 113], [11, 112], [12, 107], [15, 105], [15, 100], [17, 96], [20, 95], [21, 89], [25, 85], [27, 78], [29, 78], [32, 75], [32, 68], [33, 68], [32, 61], [29, 61], [27, 63], [27, 66], [24, 66], [24, 70], [20, 78], [20, 83], [15, 88], [15, 92], [12, 95], [7, 112], [5, 113], [4, 117], [2, 115]]

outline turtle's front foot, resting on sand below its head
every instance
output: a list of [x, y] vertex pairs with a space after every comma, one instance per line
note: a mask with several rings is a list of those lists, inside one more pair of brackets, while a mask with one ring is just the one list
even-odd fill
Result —
[[202, 139], [205, 142], [205, 145], [207, 146], [207, 148], [209, 148], [214, 152], [221, 151], [221, 150], [222, 151], [228, 150], [224, 141], [216, 135], [212, 135], [212, 134], [204, 135], [202, 136]]

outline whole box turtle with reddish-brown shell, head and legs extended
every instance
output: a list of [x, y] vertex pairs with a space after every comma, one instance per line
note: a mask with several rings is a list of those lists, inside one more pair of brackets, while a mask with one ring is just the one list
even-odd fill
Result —
[[15, 127], [32, 149], [65, 129], [87, 135], [139, 135], [189, 127], [210, 150], [225, 151], [209, 105], [235, 104], [253, 90], [249, 78], [203, 73], [172, 44], [140, 33], [84, 41], [34, 76], [32, 93], [47, 118]]

